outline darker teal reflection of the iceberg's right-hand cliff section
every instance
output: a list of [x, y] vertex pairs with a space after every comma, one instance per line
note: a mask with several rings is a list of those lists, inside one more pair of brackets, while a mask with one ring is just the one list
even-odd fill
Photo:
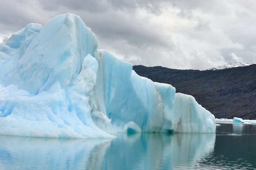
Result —
[[121, 135], [106, 152], [106, 169], [193, 169], [213, 152], [214, 144], [215, 134]]

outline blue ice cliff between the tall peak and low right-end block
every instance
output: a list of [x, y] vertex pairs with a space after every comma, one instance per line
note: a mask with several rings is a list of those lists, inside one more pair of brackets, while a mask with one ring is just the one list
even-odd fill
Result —
[[172, 128], [169, 115], [173, 113], [175, 88], [138, 76], [131, 63], [121, 61], [105, 50], [99, 50], [98, 63], [95, 88], [98, 109], [112, 120], [114, 126], [133, 122], [143, 132]]

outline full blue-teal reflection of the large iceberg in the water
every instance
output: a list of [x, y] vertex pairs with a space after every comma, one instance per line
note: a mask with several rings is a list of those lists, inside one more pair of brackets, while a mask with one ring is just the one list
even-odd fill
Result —
[[214, 150], [215, 134], [118, 134], [116, 139], [0, 136], [0, 169], [182, 169]]

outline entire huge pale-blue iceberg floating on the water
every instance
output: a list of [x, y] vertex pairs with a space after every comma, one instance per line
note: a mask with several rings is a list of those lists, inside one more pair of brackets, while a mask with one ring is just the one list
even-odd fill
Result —
[[0, 134], [113, 138], [117, 132], [214, 133], [215, 117], [169, 84], [98, 50], [79, 16], [29, 24], [0, 45]]

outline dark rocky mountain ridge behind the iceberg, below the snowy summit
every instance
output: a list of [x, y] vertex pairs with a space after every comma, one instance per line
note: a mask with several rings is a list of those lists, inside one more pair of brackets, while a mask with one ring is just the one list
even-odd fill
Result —
[[176, 92], [195, 97], [216, 118], [256, 119], [256, 64], [222, 70], [177, 70], [133, 66], [152, 81], [171, 84]]

